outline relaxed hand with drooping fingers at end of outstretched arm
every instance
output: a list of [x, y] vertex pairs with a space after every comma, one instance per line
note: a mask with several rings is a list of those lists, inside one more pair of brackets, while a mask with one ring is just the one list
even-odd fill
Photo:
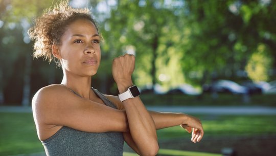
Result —
[[180, 126], [185, 130], [187, 130], [189, 133], [192, 132], [191, 141], [193, 143], [199, 142], [204, 135], [201, 121], [192, 116], [188, 116], [188, 117], [189, 117], [189, 120], [188, 120], [189, 122], [187, 124], [181, 124]]

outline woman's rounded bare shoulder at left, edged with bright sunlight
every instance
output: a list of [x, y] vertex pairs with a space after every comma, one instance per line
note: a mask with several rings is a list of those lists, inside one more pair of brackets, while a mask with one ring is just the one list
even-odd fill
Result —
[[61, 84], [52, 84], [40, 88], [32, 100], [33, 115], [37, 122], [43, 124], [56, 123], [61, 114], [72, 113], [81, 106], [84, 101], [72, 91]]

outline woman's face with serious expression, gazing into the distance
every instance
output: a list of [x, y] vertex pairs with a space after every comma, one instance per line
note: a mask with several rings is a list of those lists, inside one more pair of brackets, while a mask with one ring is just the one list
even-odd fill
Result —
[[95, 75], [101, 61], [100, 40], [90, 20], [77, 19], [66, 27], [58, 46], [63, 70], [79, 76]]

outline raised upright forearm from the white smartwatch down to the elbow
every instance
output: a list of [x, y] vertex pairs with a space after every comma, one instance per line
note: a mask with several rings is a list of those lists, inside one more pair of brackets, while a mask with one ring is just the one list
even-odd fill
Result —
[[[128, 84], [126, 86], [131, 86]], [[127, 87], [118, 85], [120, 93], [127, 90]], [[123, 101], [126, 111], [129, 131], [133, 141], [142, 155], [152, 155], [152, 151], [158, 150], [155, 123], [144, 106], [140, 97], [130, 98]]]

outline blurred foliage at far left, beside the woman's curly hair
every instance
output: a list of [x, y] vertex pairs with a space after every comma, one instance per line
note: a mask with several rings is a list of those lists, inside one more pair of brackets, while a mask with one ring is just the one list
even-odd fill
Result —
[[[15, 0], [1, 1], [0, 4], [0, 104], [5, 101], [21, 103], [26, 60], [31, 58], [33, 51], [27, 30], [34, 17], [51, 6], [52, 1]], [[49, 73], [46, 74], [47, 77], [51, 75]]]

